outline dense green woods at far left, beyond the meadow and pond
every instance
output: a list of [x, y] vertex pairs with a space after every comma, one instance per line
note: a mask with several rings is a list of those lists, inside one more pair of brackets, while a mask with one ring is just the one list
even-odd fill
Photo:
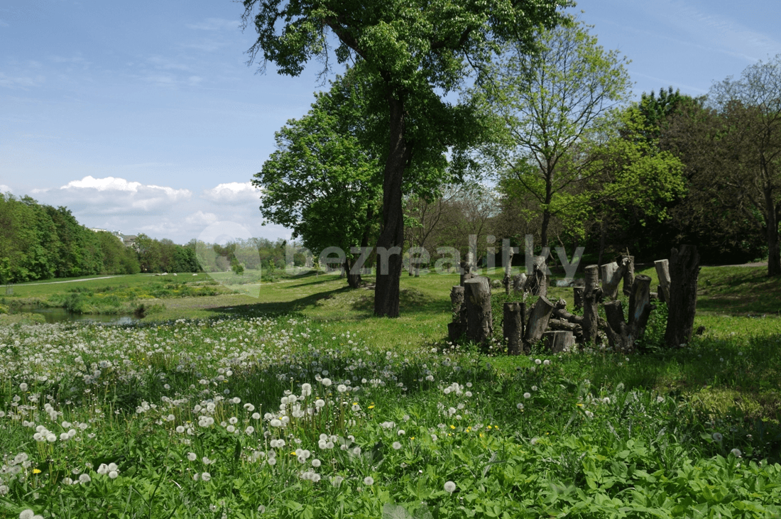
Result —
[[133, 247], [80, 225], [68, 208], [0, 193], [0, 283], [95, 274], [198, 272], [195, 242], [140, 234]]

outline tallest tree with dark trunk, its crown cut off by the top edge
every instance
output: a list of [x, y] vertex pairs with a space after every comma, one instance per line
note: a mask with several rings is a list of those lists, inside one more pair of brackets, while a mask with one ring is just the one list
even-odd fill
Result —
[[[497, 43], [518, 41], [533, 52], [537, 27], [562, 21], [569, 0], [244, 0], [244, 21], [259, 37], [251, 60], [276, 63], [280, 73], [297, 76], [312, 58], [327, 71], [330, 34], [337, 38], [338, 62], [359, 60], [376, 78], [384, 101], [387, 133], [383, 170], [383, 228], [374, 300], [375, 315], [398, 316], [402, 210], [405, 173], [410, 165], [437, 164], [458, 144], [469, 111], [444, 101], [464, 80], [469, 64], [486, 62]], [[257, 9], [257, 12], [255, 12]], [[433, 171], [440, 169], [434, 168]], [[432, 171], [419, 168], [420, 180]], [[413, 179], [415, 182], [419, 179]], [[384, 256], [384, 257], [383, 257]]]

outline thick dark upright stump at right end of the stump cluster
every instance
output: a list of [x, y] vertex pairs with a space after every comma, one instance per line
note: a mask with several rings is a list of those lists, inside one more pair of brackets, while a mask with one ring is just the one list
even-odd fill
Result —
[[670, 253], [670, 300], [665, 343], [677, 348], [689, 343], [697, 309], [697, 275], [700, 254], [694, 245], [681, 245]]

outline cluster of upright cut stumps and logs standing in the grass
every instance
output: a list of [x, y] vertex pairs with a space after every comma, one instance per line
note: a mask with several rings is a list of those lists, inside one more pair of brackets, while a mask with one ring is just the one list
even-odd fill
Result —
[[[507, 341], [508, 354], [522, 354], [531, 345], [544, 344], [553, 353], [569, 351], [576, 344], [596, 344], [606, 337], [615, 351], [630, 352], [637, 339], [644, 335], [648, 318], [654, 310], [653, 300], [665, 301], [669, 306], [669, 318], [665, 343], [679, 347], [687, 343], [694, 325], [697, 298], [697, 273], [699, 256], [697, 248], [683, 245], [672, 249], [669, 260], [655, 262], [659, 277], [656, 293], [651, 292], [651, 278], [634, 274], [634, 257], [626, 254], [617, 261], [601, 266], [588, 265], [584, 269], [584, 286], [574, 287], [577, 308], [583, 315], [566, 310], [565, 300], [551, 302], [547, 299], [547, 267], [543, 257], [534, 261], [530, 275], [510, 277], [505, 270], [505, 293], [511, 288], [521, 294], [518, 302], [505, 303], [502, 336]], [[469, 266], [468, 264], [465, 266]], [[453, 319], [448, 324], [451, 341], [462, 337], [478, 344], [487, 344], [494, 335], [491, 311], [491, 283], [488, 278], [474, 276], [469, 270], [462, 274], [462, 284], [451, 290]], [[619, 285], [629, 297], [629, 317], [625, 318], [622, 302], [617, 299]], [[529, 308], [526, 297], [539, 296]], [[598, 315], [599, 304], [604, 306], [605, 318]]]

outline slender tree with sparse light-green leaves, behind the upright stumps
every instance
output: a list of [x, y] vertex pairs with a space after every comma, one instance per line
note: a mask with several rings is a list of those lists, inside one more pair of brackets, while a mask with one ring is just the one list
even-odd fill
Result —
[[547, 247], [551, 219], [582, 212], [577, 195], [590, 176], [581, 143], [601, 133], [604, 116], [626, 100], [630, 81], [626, 58], [606, 52], [583, 23], [542, 30], [539, 38], [538, 55], [511, 48], [478, 95], [502, 128], [501, 141], [484, 154], [503, 173], [505, 187], [537, 202]]

